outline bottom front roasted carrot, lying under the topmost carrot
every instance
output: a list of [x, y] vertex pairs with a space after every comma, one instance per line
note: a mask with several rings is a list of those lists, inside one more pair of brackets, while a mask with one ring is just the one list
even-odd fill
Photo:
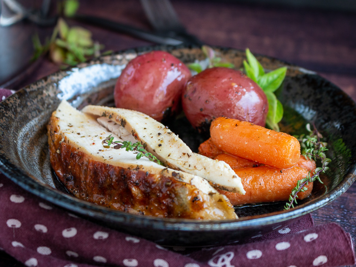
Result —
[[[218, 190], [227, 196], [232, 205], [249, 203], [287, 201], [290, 192], [296, 186], [298, 180], [308, 175], [308, 170], [301, 167], [289, 169], [276, 169], [269, 166], [255, 168], [234, 169], [241, 177], [246, 190], [245, 195]], [[313, 183], [309, 183], [308, 190], [298, 193], [298, 199], [308, 197], [313, 189]]]

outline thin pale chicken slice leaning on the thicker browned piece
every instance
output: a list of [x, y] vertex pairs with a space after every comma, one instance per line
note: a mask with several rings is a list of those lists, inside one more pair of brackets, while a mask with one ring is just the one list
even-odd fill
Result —
[[98, 116], [98, 122], [118, 136], [146, 145], [168, 167], [199, 175], [221, 190], [245, 194], [241, 178], [223, 161], [193, 153], [177, 135], [150, 116], [138, 111], [89, 105], [84, 113]]

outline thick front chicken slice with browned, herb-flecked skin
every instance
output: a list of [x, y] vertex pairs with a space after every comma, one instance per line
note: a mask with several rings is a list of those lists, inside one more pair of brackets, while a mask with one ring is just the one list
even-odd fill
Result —
[[[114, 123], [112, 123], [114, 126]], [[164, 218], [236, 219], [233, 206], [200, 176], [104, 147], [96, 118], [62, 101], [47, 126], [52, 168], [76, 197], [119, 211]], [[130, 135], [131, 136], [131, 135]]]

